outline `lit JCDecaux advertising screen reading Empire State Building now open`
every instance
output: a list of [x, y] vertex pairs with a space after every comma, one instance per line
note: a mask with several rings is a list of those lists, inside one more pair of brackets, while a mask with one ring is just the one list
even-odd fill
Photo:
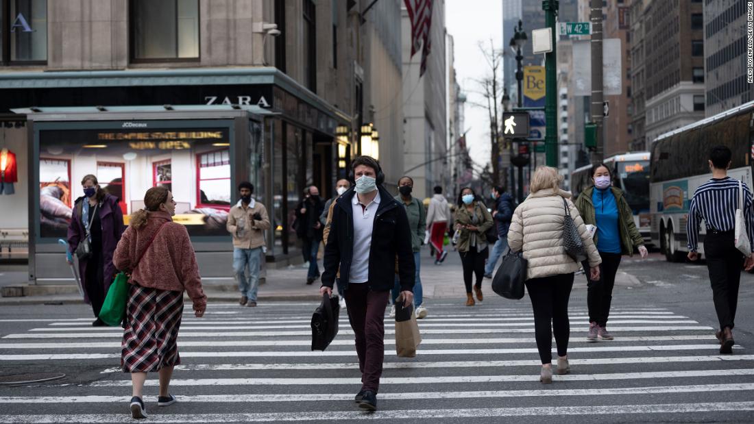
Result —
[[[130, 123], [125, 123], [130, 124]], [[83, 200], [81, 179], [96, 175], [118, 198], [128, 224], [149, 188], [173, 193], [176, 216], [192, 236], [227, 236], [231, 206], [230, 130], [138, 128], [39, 131], [39, 235], [66, 237]]]

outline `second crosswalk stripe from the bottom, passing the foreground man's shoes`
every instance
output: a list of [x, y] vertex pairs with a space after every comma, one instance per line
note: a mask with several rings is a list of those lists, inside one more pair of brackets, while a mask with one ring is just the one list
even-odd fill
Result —
[[[696, 384], [691, 386], [651, 386], [651, 387], [621, 387], [611, 389], [538, 389], [538, 390], [489, 390], [477, 392], [411, 392], [390, 393], [381, 392], [381, 400], [403, 399], [477, 399], [477, 398], [527, 398], [527, 397], [556, 397], [556, 396], [594, 396], [594, 395], [655, 395], [661, 393], [697, 393], [697, 392], [740, 392], [754, 390], [754, 383], [740, 384]], [[154, 397], [153, 397], [154, 398]], [[329, 394], [299, 394], [299, 395], [184, 395], [178, 399], [181, 403], [213, 402], [295, 402], [295, 401], [350, 401], [352, 393]], [[90, 403], [121, 403], [127, 401], [124, 396], [85, 395], [85, 396], [17, 396], [0, 397], [0, 404], [90, 404]], [[156, 401], [156, 398], [146, 398], [146, 401]]]

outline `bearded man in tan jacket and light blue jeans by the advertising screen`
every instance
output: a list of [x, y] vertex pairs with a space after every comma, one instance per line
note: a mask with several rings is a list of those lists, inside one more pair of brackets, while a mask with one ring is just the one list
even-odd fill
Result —
[[[265, 245], [265, 230], [270, 227], [267, 209], [251, 197], [254, 186], [244, 181], [238, 185], [241, 200], [228, 211], [228, 233], [233, 236], [233, 271], [241, 291], [241, 306], [256, 307], [256, 291], [259, 288], [259, 264], [262, 246]], [[249, 269], [249, 278], [246, 273]]]

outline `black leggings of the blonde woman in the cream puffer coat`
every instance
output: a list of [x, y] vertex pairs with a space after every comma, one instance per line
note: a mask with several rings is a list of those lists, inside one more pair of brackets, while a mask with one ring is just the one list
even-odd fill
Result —
[[571, 332], [568, 301], [573, 287], [573, 273], [530, 279], [526, 290], [534, 309], [534, 331], [542, 364], [553, 361], [553, 331], [559, 356], [568, 353]]

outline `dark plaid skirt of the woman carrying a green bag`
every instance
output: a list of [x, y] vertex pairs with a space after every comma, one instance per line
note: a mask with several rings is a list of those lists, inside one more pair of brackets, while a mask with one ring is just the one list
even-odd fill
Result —
[[121, 342], [123, 371], [152, 372], [180, 364], [176, 340], [182, 315], [182, 291], [130, 285]]

